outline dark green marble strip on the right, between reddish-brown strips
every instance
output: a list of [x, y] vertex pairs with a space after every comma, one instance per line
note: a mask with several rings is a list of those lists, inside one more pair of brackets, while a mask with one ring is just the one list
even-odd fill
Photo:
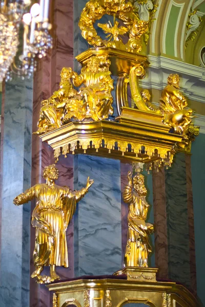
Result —
[[169, 278], [190, 287], [190, 248], [185, 154], [165, 171]]

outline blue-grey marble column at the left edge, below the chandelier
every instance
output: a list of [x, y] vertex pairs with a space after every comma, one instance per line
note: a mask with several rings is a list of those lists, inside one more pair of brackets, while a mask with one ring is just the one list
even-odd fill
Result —
[[33, 81], [15, 78], [3, 92], [1, 140], [1, 306], [29, 306], [30, 204], [13, 199], [30, 187]]

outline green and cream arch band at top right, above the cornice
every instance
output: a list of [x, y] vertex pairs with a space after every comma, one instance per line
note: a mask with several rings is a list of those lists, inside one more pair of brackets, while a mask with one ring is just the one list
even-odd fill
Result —
[[150, 54], [185, 59], [186, 24], [194, 2], [195, 0], [156, 1], [158, 9], [156, 21], [151, 28]]

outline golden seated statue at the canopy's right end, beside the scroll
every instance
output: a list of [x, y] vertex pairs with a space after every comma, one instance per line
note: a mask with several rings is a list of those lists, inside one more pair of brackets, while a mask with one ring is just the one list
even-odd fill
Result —
[[179, 91], [179, 75], [171, 74], [168, 85], [161, 93], [159, 108], [164, 115], [163, 123], [174, 128], [176, 133], [185, 135], [189, 124], [194, 117], [191, 108], [185, 109], [187, 99]]

